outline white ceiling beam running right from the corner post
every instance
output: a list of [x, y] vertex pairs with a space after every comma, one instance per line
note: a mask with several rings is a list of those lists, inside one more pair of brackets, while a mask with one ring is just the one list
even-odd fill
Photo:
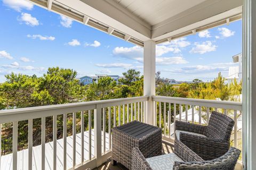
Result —
[[151, 27], [155, 41], [242, 13], [242, 0], [208, 0]]

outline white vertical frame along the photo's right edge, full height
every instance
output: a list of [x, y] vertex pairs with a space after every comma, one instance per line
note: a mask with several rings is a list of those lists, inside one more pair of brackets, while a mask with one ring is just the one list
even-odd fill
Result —
[[256, 167], [256, 1], [243, 5], [243, 169]]

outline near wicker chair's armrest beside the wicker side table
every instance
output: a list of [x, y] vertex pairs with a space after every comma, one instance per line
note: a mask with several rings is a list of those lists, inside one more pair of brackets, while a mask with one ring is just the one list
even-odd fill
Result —
[[132, 149], [132, 170], [153, 170], [138, 147]]

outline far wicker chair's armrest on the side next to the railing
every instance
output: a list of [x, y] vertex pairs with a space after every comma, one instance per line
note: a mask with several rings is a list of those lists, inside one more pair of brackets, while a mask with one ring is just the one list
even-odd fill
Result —
[[182, 122], [182, 121], [175, 121], [175, 130], [200, 133], [205, 135], [206, 128], [207, 126], [203, 126], [203, 125]]

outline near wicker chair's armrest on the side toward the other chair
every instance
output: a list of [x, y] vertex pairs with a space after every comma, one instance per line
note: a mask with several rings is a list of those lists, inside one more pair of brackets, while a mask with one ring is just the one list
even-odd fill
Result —
[[189, 149], [181, 141], [175, 140], [174, 154], [180, 157], [184, 162], [201, 162], [203, 159], [199, 157], [193, 150]]

